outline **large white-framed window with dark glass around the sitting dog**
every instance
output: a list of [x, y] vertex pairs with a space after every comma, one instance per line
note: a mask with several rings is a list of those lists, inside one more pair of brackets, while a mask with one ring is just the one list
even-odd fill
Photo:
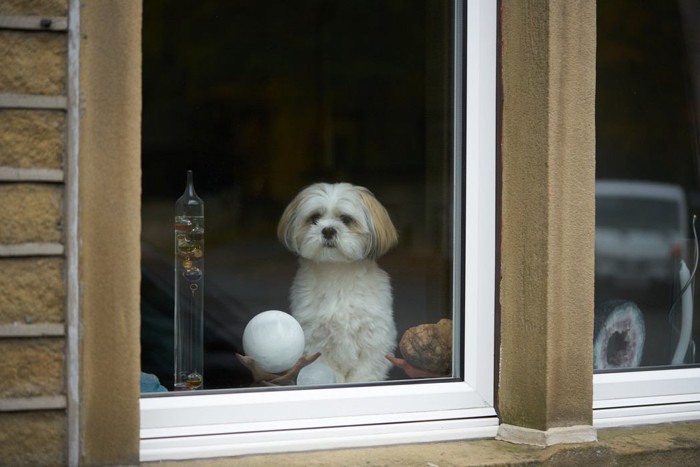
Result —
[[[172, 387], [172, 205], [190, 168], [210, 327], [204, 390], [141, 399], [142, 459], [493, 436], [495, 2], [149, 2], [144, 31], [142, 370]], [[251, 387], [234, 352], [252, 316], [288, 307], [297, 261], [276, 224], [318, 180], [385, 205], [398, 337], [451, 319], [449, 374]]]

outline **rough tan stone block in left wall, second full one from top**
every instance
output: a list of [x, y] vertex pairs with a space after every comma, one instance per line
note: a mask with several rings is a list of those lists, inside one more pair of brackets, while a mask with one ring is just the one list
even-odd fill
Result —
[[61, 169], [66, 113], [0, 110], [0, 166]]

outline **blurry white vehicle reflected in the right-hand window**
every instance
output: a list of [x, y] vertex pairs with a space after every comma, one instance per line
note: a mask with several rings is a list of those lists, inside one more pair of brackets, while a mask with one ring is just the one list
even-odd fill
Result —
[[685, 256], [686, 199], [677, 185], [596, 182], [596, 278], [620, 285], [668, 282]]

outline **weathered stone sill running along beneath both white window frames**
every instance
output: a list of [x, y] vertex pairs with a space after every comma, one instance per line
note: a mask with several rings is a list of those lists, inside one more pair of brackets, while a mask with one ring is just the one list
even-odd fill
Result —
[[[646, 425], [598, 430], [598, 441], [558, 444], [546, 448], [489, 440], [410, 444], [383, 448], [343, 449], [295, 454], [250, 456], [199, 461], [160, 462], [160, 467], [203, 466], [697, 466], [700, 422]], [[143, 464], [148, 465], [148, 463]]]

